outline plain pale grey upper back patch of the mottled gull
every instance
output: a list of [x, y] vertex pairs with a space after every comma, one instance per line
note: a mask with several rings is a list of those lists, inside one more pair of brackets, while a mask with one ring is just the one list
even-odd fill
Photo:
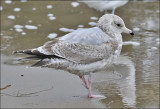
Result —
[[93, 27], [87, 29], [78, 29], [64, 35], [59, 40], [84, 45], [101, 45], [102, 43], [110, 41], [111, 39], [100, 28]]

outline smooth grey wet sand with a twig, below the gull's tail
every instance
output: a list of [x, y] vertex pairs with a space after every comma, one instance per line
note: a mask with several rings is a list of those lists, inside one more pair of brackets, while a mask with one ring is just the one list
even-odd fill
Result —
[[[49, 68], [5, 65], [1, 57], [2, 108], [104, 108], [99, 99], [87, 97], [78, 76]], [[95, 91], [95, 93], [98, 93]]]

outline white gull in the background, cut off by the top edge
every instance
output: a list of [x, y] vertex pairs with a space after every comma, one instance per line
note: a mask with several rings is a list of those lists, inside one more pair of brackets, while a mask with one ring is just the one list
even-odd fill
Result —
[[108, 13], [107, 10], [112, 10], [112, 14], [114, 14], [116, 8], [123, 6], [128, 2], [128, 0], [118, 0], [118, 1], [117, 0], [112, 0], [112, 1], [111, 0], [105, 0], [105, 1], [79, 0], [79, 1], [87, 4], [88, 7], [94, 8], [100, 12], [105, 11], [105, 13]]

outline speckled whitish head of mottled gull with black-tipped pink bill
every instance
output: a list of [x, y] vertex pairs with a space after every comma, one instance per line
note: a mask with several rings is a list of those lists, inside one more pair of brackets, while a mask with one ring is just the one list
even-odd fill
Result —
[[125, 26], [124, 21], [114, 14], [103, 15], [99, 19], [97, 26], [109, 34], [114, 32], [116, 34], [128, 33], [134, 35], [133, 31]]

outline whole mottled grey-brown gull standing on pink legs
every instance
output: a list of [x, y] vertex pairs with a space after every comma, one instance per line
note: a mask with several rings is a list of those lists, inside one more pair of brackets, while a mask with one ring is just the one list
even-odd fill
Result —
[[[122, 32], [134, 35], [119, 16], [105, 14], [95, 27], [78, 29], [38, 48], [14, 53], [28, 54], [41, 59], [32, 66], [61, 69], [78, 75], [88, 89], [89, 98], [104, 97], [92, 94], [92, 73], [105, 70], [120, 55], [123, 44]], [[88, 82], [85, 75], [89, 75]]]

